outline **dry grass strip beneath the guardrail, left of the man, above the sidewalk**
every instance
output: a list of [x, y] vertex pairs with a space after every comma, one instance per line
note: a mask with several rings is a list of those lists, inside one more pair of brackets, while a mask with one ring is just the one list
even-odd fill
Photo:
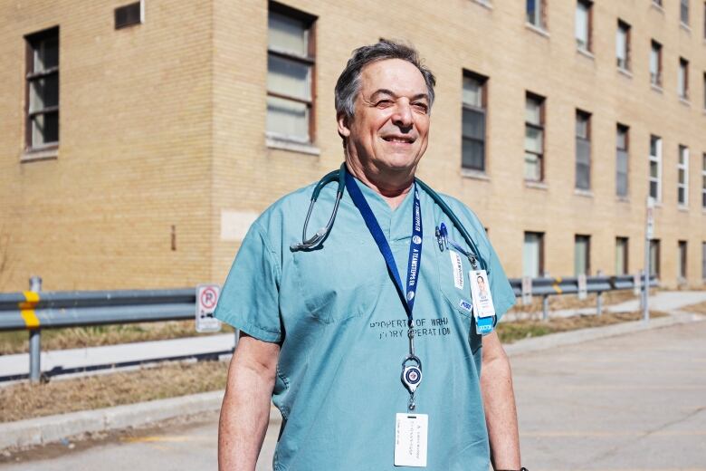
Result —
[[[234, 332], [224, 324], [222, 333]], [[161, 341], [180, 339], [196, 335], [194, 321], [143, 322], [134, 324], [97, 325], [69, 329], [45, 329], [42, 331], [42, 350], [78, 349], [100, 347], [134, 341]], [[26, 353], [29, 351], [29, 336], [26, 331], [0, 332], [0, 355]]]

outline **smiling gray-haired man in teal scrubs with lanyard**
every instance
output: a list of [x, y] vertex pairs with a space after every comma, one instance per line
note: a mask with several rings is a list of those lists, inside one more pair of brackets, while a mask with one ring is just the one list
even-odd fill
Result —
[[[275, 469], [396, 469], [406, 414], [428, 418], [426, 439], [410, 439], [430, 470], [485, 471], [490, 459], [520, 469], [510, 365], [497, 334], [478, 333], [466, 307], [472, 257], [441, 250], [434, 226], [448, 217], [415, 185], [433, 101], [434, 75], [415, 50], [386, 41], [356, 50], [336, 85], [348, 179], [329, 235], [314, 249], [291, 248], [312, 185], [268, 208], [243, 240], [215, 312], [242, 332], [221, 411], [220, 469], [254, 469], [271, 399], [282, 414]], [[324, 187], [310, 227], [326, 226], [335, 200], [336, 185]], [[497, 255], [472, 212], [444, 200], [485, 261], [499, 319], [515, 298]], [[371, 218], [384, 240], [368, 229]], [[400, 377], [411, 354], [424, 365], [415, 394]], [[418, 366], [407, 380], [420, 379]]]

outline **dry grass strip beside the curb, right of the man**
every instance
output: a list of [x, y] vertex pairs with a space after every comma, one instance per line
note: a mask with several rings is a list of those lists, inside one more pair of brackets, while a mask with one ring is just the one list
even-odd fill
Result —
[[[652, 317], [663, 317], [667, 314], [663, 312], [650, 312]], [[555, 332], [576, 331], [589, 327], [601, 327], [619, 322], [639, 321], [643, 317], [642, 312], [605, 312], [597, 315], [577, 315], [573, 317], [561, 317], [550, 319], [549, 321], [523, 320], [515, 322], [501, 322], [498, 325], [498, 335], [503, 343], [512, 343], [530, 337], [539, 337]]]

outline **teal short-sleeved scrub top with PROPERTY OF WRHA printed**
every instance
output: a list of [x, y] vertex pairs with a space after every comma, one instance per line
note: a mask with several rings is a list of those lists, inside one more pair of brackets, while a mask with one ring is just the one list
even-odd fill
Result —
[[[412, 233], [410, 191], [396, 209], [359, 182], [396, 259], [403, 283]], [[224, 284], [215, 317], [256, 339], [281, 344], [272, 401], [282, 424], [275, 470], [392, 470], [395, 418], [409, 393], [400, 381], [408, 353], [406, 314], [385, 260], [348, 192], [320, 248], [293, 252], [314, 185], [282, 197], [250, 228]], [[325, 187], [310, 221], [310, 234], [326, 226], [336, 183]], [[415, 295], [415, 353], [423, 380], [415, 413], [428, 414], [427, 469], [486, 470], [488, 434], [480, 388], [482, 337], [475, 332], [469, 271], [454, 284], [449, 250], [441, 251], [434, 227], [463, 237], [420, 188], [424, 228]], [[498, 319], [515, 295], [478, 218], [443, 196], [478, 246], [489, 268]]]

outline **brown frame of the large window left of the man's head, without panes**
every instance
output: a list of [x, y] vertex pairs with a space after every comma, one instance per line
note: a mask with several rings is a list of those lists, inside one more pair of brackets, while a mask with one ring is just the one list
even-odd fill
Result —
[[[316, 72], [317, 72], [317, 67], [316, 67], [316, 24], [317, 24], [317, 17], [314, 16], [313, 14], [307, 14], [305, 12], [302, 12], [301, 10], [297, 10], [296, 8], [292, 8], [289, 5], [283, 5], [278, 2], [273, 2], [270, 0], [267, 5], [267, 14], [268, 14], [268, 21], [269, 21], [269, 15], [271, 13], [275, 14], [280, 14], [282, 16], [288, 16], [291, 19], [295, 19], [298, 21], [301, 21], [301, 23], [306, 24], [305, 31], [307, 32], [307, 56], [301, 56], [296, 53], [290, 53], [287, 51], [280, 51], [277, 49], [272, 49], [270, 48], [269, 44], [269, 38], [268, 38], [268, 44], [267, 44], [267, 58], [269, 61], [269, 58], [272, 54], [272, 56], [288, 60], [291, 62], [297, 62], [300, 64], [304, 64], [308, 67], [310, 67], [310, 76], [311, 76], [311, 90], [310, 90], [310, 100], [303, 100], [299, 97], [291, 96], [286, 93], [280, 93], [276, 91], [270, 91], [269, 87], [265, 84], [266, 87], [266, 96], [273, 97], [273, 98], [279, 98], [281, 100], [288, 100], [288, 101], [294, 101], [298, 102], [301, 104], [305, 104], [307, 106], [307, 109], [309, 111], [309, 122], [307, 123], [307, 127], [309, 130], [309, 139], [297, 139], [295, 136], [287, 136], [287, 135], [282, 135], [279, 133], [273, 133], [272, 131], [266, 130], [266, 134], [268, 137], [273, 138], [273, 139], [278, 139], [278, 140], [283, 140], [286, 142], [293, 142], [297, 144], [305, 144], [305, 145], [312, 145], [316, 142]], [[270, 29], [268, 26], [268, 36], [270, 34]], [[269, 74], [269, 67], [267, 73]], [[265, 111], [265, 114], [266, 111]]]

